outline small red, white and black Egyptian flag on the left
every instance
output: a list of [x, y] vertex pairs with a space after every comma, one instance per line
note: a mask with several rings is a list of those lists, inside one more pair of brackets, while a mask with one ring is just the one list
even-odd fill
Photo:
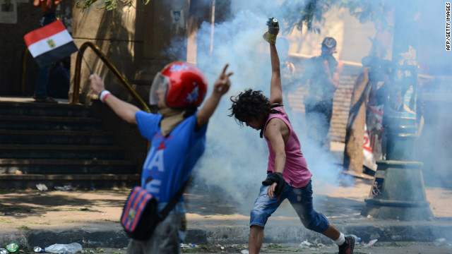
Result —
[[61, 20], [28, 32], [23, 40], [40, 67], [48, 66], [78, 50]]

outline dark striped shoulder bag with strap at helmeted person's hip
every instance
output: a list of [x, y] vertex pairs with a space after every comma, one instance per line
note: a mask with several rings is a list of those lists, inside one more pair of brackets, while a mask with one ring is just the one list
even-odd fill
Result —
[[152, 194], [140, 186], [134, 187], [121, 214], [121, 225], [127, 236], [139, 241], [148, 240], [153, 235], [157, 224], [162, 222], [176, 205], [184, 193], [185, 186], [186, 182], [160, 212], [157, 212], [157, 200]]

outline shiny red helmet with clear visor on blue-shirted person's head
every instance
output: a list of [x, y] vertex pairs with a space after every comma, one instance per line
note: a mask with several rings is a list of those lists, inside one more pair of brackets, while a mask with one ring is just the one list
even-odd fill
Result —
[[166, 88], [168, 107], [198, 107], [207, 92], [207, 80], [196, 66], [185, 61], [169, 63], [155, 75], [150, 87], [149, 104], [157, 104], [157, 90]]

